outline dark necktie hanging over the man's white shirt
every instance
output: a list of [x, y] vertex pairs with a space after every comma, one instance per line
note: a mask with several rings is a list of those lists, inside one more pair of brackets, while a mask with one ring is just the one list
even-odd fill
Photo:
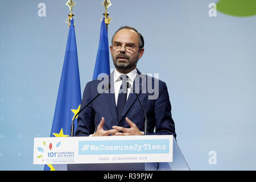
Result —
[[121, 114], [123, 111], [123, 107], [125, 107], [126, 103], [126, 97], [127, 97], [127, 78], [126, 75], [121, 75], [120, 79], [122, 81], [122, 84], [119, 89], [118, 99], [117, 99], [117, 118], [118, 120], [121, 119]]

